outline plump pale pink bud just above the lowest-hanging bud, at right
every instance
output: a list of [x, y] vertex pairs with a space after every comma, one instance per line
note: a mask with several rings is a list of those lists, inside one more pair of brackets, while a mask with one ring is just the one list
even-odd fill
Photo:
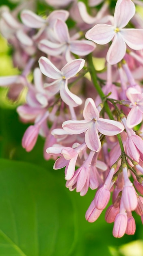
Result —
[[124, 207], [127, 211], [134, 211], [137, 208], [137, 195], [132, 183], [124, 186], [122, 191]]

